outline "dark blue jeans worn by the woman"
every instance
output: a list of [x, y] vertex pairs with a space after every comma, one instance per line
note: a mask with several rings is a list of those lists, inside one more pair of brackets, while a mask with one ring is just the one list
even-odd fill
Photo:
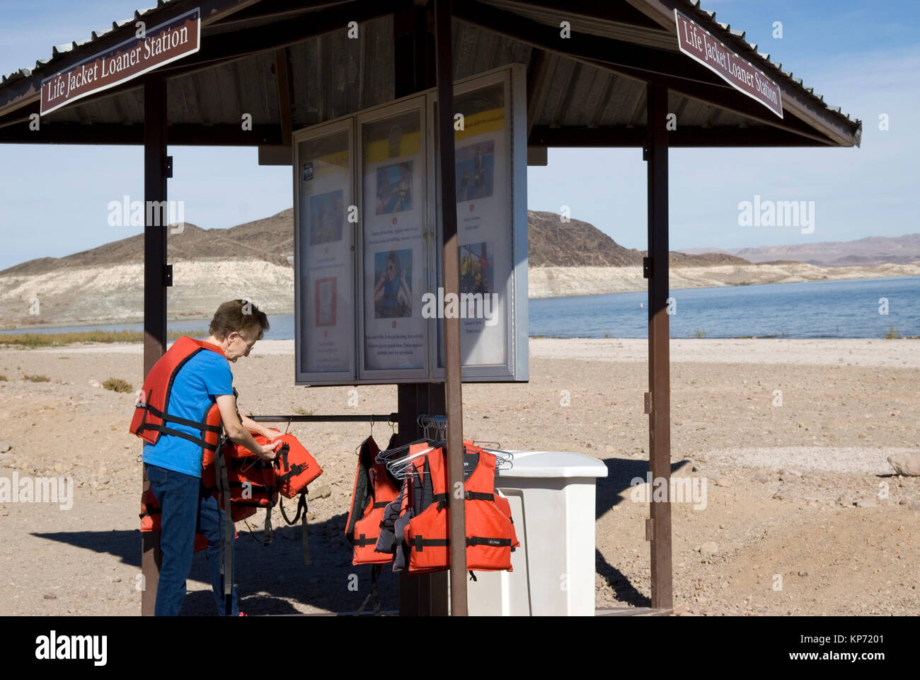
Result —
[[[160, 551], [163, 561], [160, 578], [156, 586], [155, 616], [177, 616], [185, 600], [185, 581], [191, 571], [194, 554], [195, 533], [201, 532], [208, 539], [205, 551], [211, 584], [214, 589], [214, 604], [217, 613], [225, 612], [224, 580], [221, 576], [223, 554], [224, 511], [217, 506], [213, 496], [205, 495], [200, 477], [167, 470], [157, 465], [144, 463], [150, 488], [159, 503], [162, 529], [160, 530]], [[235, 542], [236, 543], [236, 542]], [[233, 560], [234, 547], [231, 547]], [[236, 586], [232, 589], [230, 616], [239, 616], [236, 606]]]

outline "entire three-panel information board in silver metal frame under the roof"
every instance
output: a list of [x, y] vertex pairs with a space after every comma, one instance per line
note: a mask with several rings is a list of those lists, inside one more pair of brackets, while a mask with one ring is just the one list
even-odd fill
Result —
[[526, 381], [526, 67], [454, 85], [459, 289], [443, 289], [437, 92], [293, 134], [296, 381]]

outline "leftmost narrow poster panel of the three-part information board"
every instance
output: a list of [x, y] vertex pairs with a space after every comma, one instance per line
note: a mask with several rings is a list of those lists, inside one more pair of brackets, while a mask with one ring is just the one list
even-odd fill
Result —
[[357, 209], [350, 207], [350, 145], [350, 125], [298, 145], [301, 373], [354, 370], [352, 240]]

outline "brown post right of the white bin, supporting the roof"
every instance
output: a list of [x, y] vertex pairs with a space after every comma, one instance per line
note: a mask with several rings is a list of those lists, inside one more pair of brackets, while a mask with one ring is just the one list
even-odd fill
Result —
[[[651, 540], [651, 606], [673, 607], [671, 555], [671, 359], [668, 345], [668, 88], [649, 83], [649, 461], [652, 487], [663, 484], [665, 500], [652, 494], [646, 538]], [[663, 480], [663, 481], [662, 481]]]

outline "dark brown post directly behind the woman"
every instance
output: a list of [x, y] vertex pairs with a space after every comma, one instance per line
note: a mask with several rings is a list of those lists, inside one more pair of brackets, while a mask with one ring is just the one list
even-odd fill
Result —
[[[163, 208], [158, 215], [144, 210], [144, 376], [167, 351], [166, 200], [167, 85], [150, 80], [144, 83], [144, 205], [162, 201]], [[143, 492], [150, 487], [143, 467], [142, 475]], [[154, 616], [162, 557], [160, 533], [141, 533], [141, 616]]]

